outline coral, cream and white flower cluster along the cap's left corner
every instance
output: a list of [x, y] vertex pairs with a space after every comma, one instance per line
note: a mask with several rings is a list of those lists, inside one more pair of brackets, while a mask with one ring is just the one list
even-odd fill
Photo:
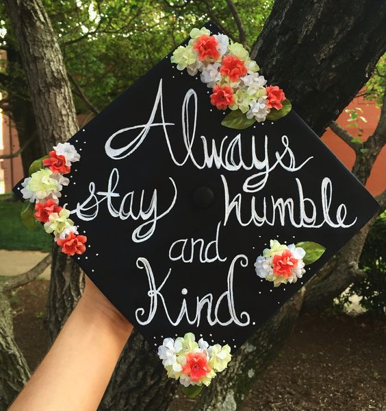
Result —
[[59, 143], [53, 149], [42, 158], [41, 165], [44, 167], [25, 178], [21, 193], [25, 200], [35, 203], [34, 218], [44, 223], [47, 233], [53, 233], [63, 253], [83, 254], [87, 238], [79, 235], [77, 226], [70, 220], [70, 211], [59, 205], [60, 191], [70, 183], [63, 174], [70, 172], [71, 164], [79, 161], [80, 155], [70, 143]]

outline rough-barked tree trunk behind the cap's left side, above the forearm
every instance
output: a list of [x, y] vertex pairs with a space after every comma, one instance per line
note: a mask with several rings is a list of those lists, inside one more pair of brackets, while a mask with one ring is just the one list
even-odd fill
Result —
[[[62, 53], [40, 0], [5, 0], [5, 6], [27, 75], [40, 143], [49, 152], [78, 128]], [[51, 340], [72, 312], [81, 290], [76, 263], [58, 251], [53, 253], [47, 318]]]

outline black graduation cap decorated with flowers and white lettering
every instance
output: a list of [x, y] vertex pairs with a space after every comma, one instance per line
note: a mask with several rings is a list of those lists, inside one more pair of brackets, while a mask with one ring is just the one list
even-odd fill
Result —
[[209, 352], [221, 371], [378, 210], [248, 52], [205, 27], [44, 158], [49, 197], [34, 176], [15, 188], [184, 385], [212, 374], [173, 355]]

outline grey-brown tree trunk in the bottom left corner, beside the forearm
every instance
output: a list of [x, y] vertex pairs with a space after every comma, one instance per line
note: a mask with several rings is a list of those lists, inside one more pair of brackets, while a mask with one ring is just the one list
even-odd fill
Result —
[[0, 292], [0, 411], [8, 409], [29, 375], [27, 362], [14, 340], [10, 303]]

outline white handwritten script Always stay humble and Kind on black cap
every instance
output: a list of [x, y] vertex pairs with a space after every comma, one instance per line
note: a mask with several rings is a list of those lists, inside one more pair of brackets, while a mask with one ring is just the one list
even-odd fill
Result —
[[[281, 150], [269, 149], [270, 137], [264, 137], [264, 148], [262, 152], [257, 152], [255, 148], [255, 136], [243, 137], [241, 133], [235, 137], [216, 136], [216, 139], [209, 139], [204, 135], [197, 137], [197, 112], [198, 98], [196, 92], [190, 89], [185, 94], [181, 109], [181, 139], [177, 141], [175, 123], [168, 122], [164, 116], [164, 103], [162, 98], [162, 80], [159, 81], [155, 102], [151, 110], [149, 120], [146, 124], [138, 124], [122, 128], [112, 134], [105, 143], [105, 154], [117, 161], [117, 166], [111, 170], [105, 187], [97, 187], [95, 182], [90, 182], [88, 197], [77, 204], [74, 213], [83, 221], [90, 221], [97, 218], [101, 206], [107, 207], [112, 218], [120, 220], [131, 219], [138, 222], [138, 226], [131, 235], [133, 242], [139, 243], [149, 239], [156, 233], [157, 221], [173, 212], [175, 204], [178, 202], [179, 189], [172, 176], [168, 176], [167, 193], [159, 193], [159, 189], [146, 193], [145, 189], [140, 192], [129, 191], [120, 192], [120, 161], [128, 161], [130, 156], [135, 155], [136, 150], [145, 141], [157, 137], [164, 137], [164, 142], [170, 159], [177, 167], [184, 167], [188, 163], [197, 169], [219, 169], [227, 172], [237, 172], [239, 170], [250, 171], [250, 175], [242, 181], [242, 187], [238, 192], [231, 193], [227, 182], [227, 177], [220, 174], [221, 185], [224, 193], [224, 214], [220, 221], [214, 224], [214, 239], [188, 239], [178, 238], [170, 244], [168, 258], [170, 265], [173, 261], [183, 261], [184, 263], [214, 263], [215, 261], [227, 261], [229, 258], [229, 270], [227, 273], [227, 290], [217, 299], [210, 292], [205, 296], [197, 296], [196, 307], [190, 309], [193, 314], [188, 314], [188, 305], [183, 298], [181, 309], [177, 316], [172, 318], [168, 310], [168, 305], [162, 294], [162, 288], [167, 283], [172, 268], [165, 274], [157, 273], [157, 278], [162, 277], [159, 285], [155, 283], [155, 276], [151, 268], [151, 263], [146, 257], [138, 257], [136, 265], [144, 269], [149, 282], [149, 308], [139, 307], [136, 310], [136, 320], [140, 325], [149, 324], [157, 309], [163, 309], [171, 325], [179, 325], [181, 321], [198, 327], [202, 320], [202, 311], [205, 309], [205, 317], [209, 325], [227, 326], [232, 323], [244, 327], [250, 324], [248, 312], [237, 314], [235, 299], [233, 296], [233, 276], [236, 266], [246, 268], [250, 265], [248, 257], [239, 254], [234, 257], [224, 256], [220, 253], [219, 239], [221, 231], [226, 229], [231, 218], [235, 219], [240, 226], [274, 226], [291, 225], [294, 228], [319, 228], [324, 225], [333, 228], [348, 228], [355, 224], [356, 217], [348, 218], [346, 204], [342, 203], [333, 206], [333, 183], [330, 178], [321, 178], [318, 191], [318, 200], [313, 200], [305, 195], [301, 180], [294, 176], [294, 198], [274, 198], [274, 196], [261, 196], [259, 191], [269, 189], [270, 174], [274, 169], [281, 169], [286, 176], [283, 178], [287, 182], [291, 173], [307, 167], [312, 162], [313, 156], [305, 158], [295, 158], [290, 147], [289, 138], [281, 136]], [[159, 119], [158, 121], [156, 120]], [[170, 139], [169, 132], [173, 138]], [[125, 137], [125, 139], [123, 139]], [[248, 138], [248, 145], [245, 139]], [[261, 136], [259, 136], [261, 138]], [[244, 141], [243, 141], [244, 139]], [[123, 143], [123, 141], [125, 141]], [[118, 146], [118, 143], [122, 144]], [[179, 143], [179, 156], [173, 147]], [[150, 147], [150, 145], [148, 145]], [[183, 154], [181, 155], [181, 147]], [[245, 153], [246, 148], [250, 152]], [[270, 152], [271, 151], [271, 152]], [[269, 155], [270, 153], [270, 155]], [[248, 154], [248, 155], [247, 155]], [[248, 160], [246, 160], [248, 158]], [[170, 187], [169, 187], [170, 186]], [[101, 189], [102, 188], [102, 189]], [[256, 195], [256, 193], [258, 193]], [[169, 196], [170, 201], [163, 209], [158, 207], [160, 196]], [[146, 203], [146, 198], [148, 202]], [[164, 197], [163, 197], [164, 198]], [[250, 202], [250, 213], [245, 216], [246, 198], [248, 207]], [[165, 204], [165, 202], [162, 202]], [[307, 208], [307, 212], [306, 212]], [[242, 213], [242, 209], [244, 210]], [[249, 208], [248, 208], [249, 209]], [[207, 244], [205, 245], [205, 241]], [[253, 261], [252, 261], [253, 262]], [[251, 269], [252, 274], [253, 270]], [[183, 290], [183, 294], [187, 290]], [[227, 307], [229, 317], [219, 318], [218, 311], [224, 305]]]

